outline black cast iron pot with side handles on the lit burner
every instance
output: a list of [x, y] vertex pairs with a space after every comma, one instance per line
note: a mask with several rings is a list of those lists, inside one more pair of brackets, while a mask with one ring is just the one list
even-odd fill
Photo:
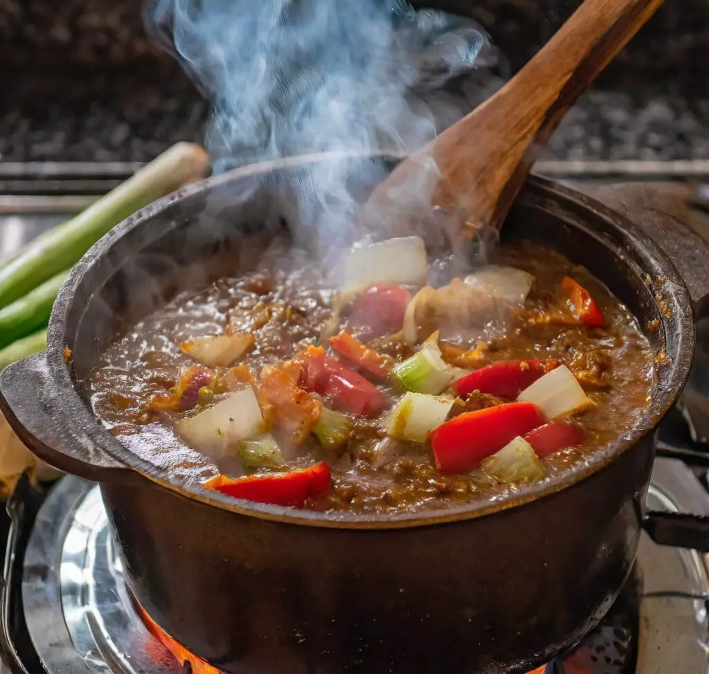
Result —
[[[0, 376], [3, 412], [38, 456], [101, 484], [125, 578], [157, 624], [218, 668], [248, 674], [447, 674], [529, 670], [586, 634], [623, 587], [647, 514], [654, 429], [693, 358], [693, 303], [709, 288], [703, 241], [658, 211], [635, 222], [531, 179], [503, 228], [584, 264], [640, 319], [657, 354], [652, 403], [614, 446], [501, 504], [399, 517], [255, 505], [170, 480], [94, 417], [88, 378], [125, 325], [193, 263], [252, 254], [297, 217], [306, 169], [381, 159], [320, 155], [259, 164], [189, 186], [118, 225], [57, 298], [48, 352]], [[392, 162], [389, 162], [391, 167]], [[366, 182], [366, 180], [365, 180]], [[362, 195], [372, 184], [361, 184]], [[626, 204], [627, 205], [627, 204]], [[685, 271], [679, 276], [666, 252]], [[196, 265], [200, 269], [201, 264]], [[65, 347], [72, 350], [67, 360]], [[654, 517], [661, 542], [709, 549], [703, 522]]]

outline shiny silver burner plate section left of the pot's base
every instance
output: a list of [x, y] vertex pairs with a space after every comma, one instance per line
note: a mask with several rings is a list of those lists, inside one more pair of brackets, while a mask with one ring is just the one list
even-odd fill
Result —
[[50, 674], [181, 674], [125, 589], [99, 488], [63, 478], [28, 543], [23, 603]]

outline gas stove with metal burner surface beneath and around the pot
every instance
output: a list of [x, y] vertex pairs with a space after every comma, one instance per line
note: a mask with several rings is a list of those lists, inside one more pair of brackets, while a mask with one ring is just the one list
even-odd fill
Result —
[[[135, 169], [99, 168], [0, 164], [0, 258]], [[547, 167], [581, 189], [588, 168]], [[618, 179], [596, 168], [590, 184]], [[663, 177], [658, 167], [643, 170], [645, 180]], [[702, 168], [702, 177], [705, 170], [709, 175], [709, 167]], [[682, 176], [671, 177], [657, 182], [663, 195], [706, 208], [702, 191], [676, 181]], [[683, 219], [709, 240], [707, 215], [687, 210]], [[707, 368], [709, 319], [703, 318], [695, 371], [659, 431], [649, 510], [709, 517]], [[0, 522], [0, 529], [9, 528], [0, 588], [0, 674], [218, 674], [162, 633], [130, 595], [95, 484], [66, 476], [51, 487], [35, 487], [22, 478], [7, 510], [9, 522]], [[601, 624], [533, 674], [707, 674], [708, 602], [709, 555], [660, 546], [643, 534], [630, 580]]]

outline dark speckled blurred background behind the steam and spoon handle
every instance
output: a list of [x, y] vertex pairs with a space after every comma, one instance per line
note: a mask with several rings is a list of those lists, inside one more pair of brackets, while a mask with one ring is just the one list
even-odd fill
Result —
[[[430, 5], [473, 16], [514, 72], [577, 3]], [[201, 140], [208, 106], [152, 46], [141, 10], [140, 0], [0, 0], [0, 162], [143, 162]], [[709, 159], [707, 54], [709, 2], [667, 0], [569, 113], [547, 158]]]

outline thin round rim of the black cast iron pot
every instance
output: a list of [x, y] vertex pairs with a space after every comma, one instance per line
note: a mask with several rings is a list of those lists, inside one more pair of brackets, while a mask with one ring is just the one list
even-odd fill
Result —
[[[158, 213], [174, 206], [174, 204], [189, 199], [202, 191], [210, 191], [220, 185], [254, 176], [258, 174], [268, 174], [275, 170], [289, 167], [303, 166], [314, 162], [342, 159], [367, 159], [390, 158], [401, 159], [404, 155], [397, 155], [391, 152], [325, 152], [311, 155], [299, 155], [297, 157], [287, 157], [284, 159], [274, 159], [268, 162], [250, 164], [245, 167], [233, 169], [230, 172], [211, 176], [194, 184], [180, 189], [170, 196], [153, 202], [149, 206], [138, 210], [137, 213], [123, 220], [116, 225], [111, 232], [102, 237], [101, 240], [89, 249], [82, 259], [74, 266], [67, 280], [61, 288], [57, 301], [50, 318], [48, 328], [48, 350], [47, 362], [49, 371], [49, 384], [62, 391], [58, 405], [67, 418], [72, 418], [77, 425], [84, 425], [86, 432], [91, 434], [91, 439], [98, 444], [109, 456], [128, 468], [135, 471], [147, 480], [160, 485], [162, 488], [171, 490], [179, 495], [197, 500], [209, 507], [219, 507], [222, 510], [230, 510], [238, 515], [257, 517], [259, 519], [270, 519], [286, 524], [298, 524], [310, 527], [345, 527], [355, 529], [401, 529], [409, 527], [424, 527], [446, 522], [456, 522], [462, 519], [474, 519], [484, 517], [495, 512], [503, 512], [515, 507], [525, 505], [525, 503], [545, 498], [566, 488], [590, 478], [598, 471], [608, 466], [622, 455], [632, 444], [635, 444], [645, 434], [652, 432], [662, 417], [676, 402], [682, 391], [684, 383], [689, 375], [691, 357], [670, 359], [669, 362], [657, 367], [664, 368], [663, 390], [656, 388], [652, 396], [652, 401], [645, 408], [640, 422], [630, 431], [622, 434], [620, 440], [607, 446], [598, 448], [586, 461], [576, 464], [571, 470], [565, 471], [562, 476], [549, 479], [537, 485], [527, 485], [518, 490], [513, 495], [508, 495], [500, 502], [471, 502], [445, 510], [430, 510], [424, 512], [405, 512], [397, 515], [354, 515], [342, 512], [320, 512], [311, 510], [297, 510], [290, 507], [269, 505], [250, 502], [242, 499], [230, 498], [214, 490], [207, 490], [201, 485], [180, 485], [167, 478], [164, 468], [158, 468], [154, 464], [141, 459], [137, 454], [133, 454], [127, 447], [123, 446], [118, 439], [106, 429], [93, 410], [77, 391], [74, 384], [71, 366], [65, 357], [65, 332], [66, 320], [69, 308], [72, 306], [72, 298], [81, 283], [86, 270], [96, 260], [102, 257], [118, 240], [121, 240], [130, 230], [150, 223], [150, 220]], [[639, 228], [635, 223], [625, 218], [623, 215], [615, 213], [606, 208], [601, 203], [559, 185], [554, 181], [532, 176], [527, 181], [527, 187], [532, 190], [542, 192], [547, 198], [553, 198], [557, 203], [562, 201], [566, 206], [571, 206], [576, 210], [588, 214], [589, 212], [595, 220], [605, 220], [606, 224], [618, 234], [618, 240], [614, 247], [614, 254], [623, 257], [623, 247], [626, 250], [635, 249], [642, 257], [652, 260], [656, 266], [661, 268], [664, 280], [672, 283], [674, 293], [672, 295], [672, 305], [669, 315], [660, 313], [661, 330], [664, 343], [671, 337], [673, 339], [673, 351], [678, 354], [693, 354], [694, 348], [694, 324], [691, 299], [686, 285], [674, 268], [674, 265], [666, 257], [664, 252], [657, 247], [656, 243]], [[606, 247], [610, 247], [610, 242], [604, 240]], [[613, 251], [611, 251], [613, 252]], [[642, 269], [642, 271], [648, 271]], [[673, 326], [673, 323], [676, 325]], [[674, 327], [674, 330], [670, 330]], [[676, 335], [676, 336], [675, 336]], [[93, 425], [93, 428], [91, 428]], [[90, 429], [90, 430], [89, 430]], [[110, 469], [109, 469], [110, 470]]]

